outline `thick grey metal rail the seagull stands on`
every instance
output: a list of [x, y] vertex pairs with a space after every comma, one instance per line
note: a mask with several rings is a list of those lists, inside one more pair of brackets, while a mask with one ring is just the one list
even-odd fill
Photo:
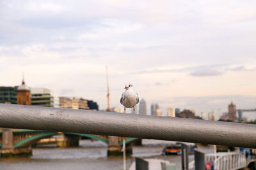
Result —
[[256, 148], [256, 125], [0, 104], [0, 127]]

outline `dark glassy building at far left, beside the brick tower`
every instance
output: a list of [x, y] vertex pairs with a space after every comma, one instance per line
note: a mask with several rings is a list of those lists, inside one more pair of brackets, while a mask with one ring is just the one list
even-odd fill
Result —
[[0, 87], [0, 103], [17, 104], [17, 87]]

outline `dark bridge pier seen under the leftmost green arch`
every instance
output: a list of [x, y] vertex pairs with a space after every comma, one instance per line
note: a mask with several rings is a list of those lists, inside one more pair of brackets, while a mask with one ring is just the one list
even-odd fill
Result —
[[61, 148], [78, 147], [79, 136], [74, 134], [65, 134], [63, 135], [63, 139], [57, 142], [57, 146]]

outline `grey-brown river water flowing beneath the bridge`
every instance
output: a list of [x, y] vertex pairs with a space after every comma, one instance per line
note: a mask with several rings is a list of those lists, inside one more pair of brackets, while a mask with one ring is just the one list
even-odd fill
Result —
[[[180, 168], [180, 155], [161, 155], [166, 145], [172, 141], [143, 139], [142, 146], [133, 146], [133, 154], [126, 158], [127, 169], [134, 157], [164, 159]], [[123, 157], [107, 157], [108, 147], [100, 141], [80, 140], [76, 148], [56, 148], [54, 145], [33, 148], [28, 158], [0, 159], [0, 169], [123, 169]]]

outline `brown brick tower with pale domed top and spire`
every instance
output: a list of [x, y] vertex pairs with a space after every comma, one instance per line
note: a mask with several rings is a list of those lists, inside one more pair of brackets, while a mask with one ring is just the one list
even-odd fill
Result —
[[24, 76], [22, 78], [22, 84], [17, 88], [17, 104], [30, 105], [30, 89], [25, 84]]

